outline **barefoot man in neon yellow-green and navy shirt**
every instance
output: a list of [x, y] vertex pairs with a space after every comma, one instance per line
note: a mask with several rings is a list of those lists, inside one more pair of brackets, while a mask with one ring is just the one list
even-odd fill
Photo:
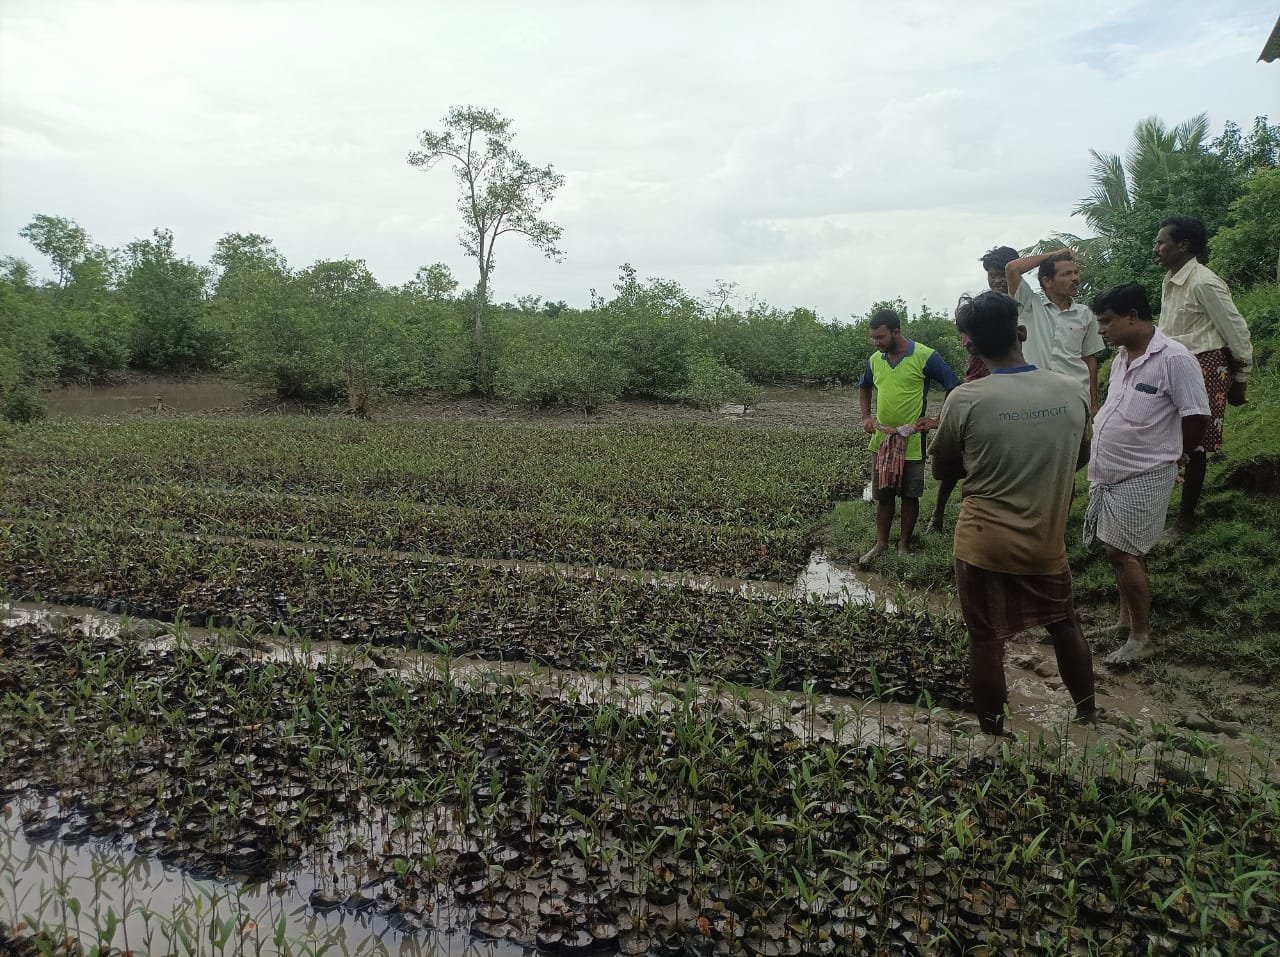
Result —
[[[897, 553], [910, 553], [915, 519], [920, 514], [920, 495], [924, 494], [924, 432], [938, 425], [936, 418], [925, 415], [929, 383], [938, 383], [947, 393], [960, 385], [942, 356], [902, 335], [902, 320], [893, 310], [879, 310], [868, 325], [876, 352], [867, 360], [858, 383], [858, 402], [863, 412], [863, 430], [870, 434], [870, 449], [877, 454], [872, 470], [876, 544], [858, 559], [859, 564], [870, 564], [888, 548], [899, 496], [902, 499], [902, 526]], [[884, 447], [886, 443], [890, 445]], [[900, 468], [882, 467], [886, 461], [893, 462], [895, 455]], [[888, 480], [887, 475], [891, 476]]]

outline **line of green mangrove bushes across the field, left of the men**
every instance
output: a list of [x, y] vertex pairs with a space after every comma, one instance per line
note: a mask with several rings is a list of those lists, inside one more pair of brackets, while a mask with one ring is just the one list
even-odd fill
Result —
[[[0, 339], [0, 388], [10, 393], [128, 368], [218, 371], [280, 399], [346, 397], [357, 409], [370, 394], [475, 389], [474, 303], [442, 264], [383, 287], [360, 260], [293, 270], [253, 234], [224, 237], [201, 266], [178, 257], [164, 229], [123, 251], [95, 246], [58, 216], [22, 232], [56, 276], [36, 283], [12, 257], [0, 267], [3, 322], [14, 333]], [[870, 348], [860, 324], [732, 298], [727, 285], [695, 297], [623, 265], [612, 296], [593, 292], [585, 310], [535, 297], [490, 304], [494, 391], [582, 408], [621, 397], [712, 406], [750, 402], [758, 384], [860, 375]], [[902, 301], [888, 304], [908, 319]], [[909, 329], [963, 360], [946, 316], [923, 307]]]

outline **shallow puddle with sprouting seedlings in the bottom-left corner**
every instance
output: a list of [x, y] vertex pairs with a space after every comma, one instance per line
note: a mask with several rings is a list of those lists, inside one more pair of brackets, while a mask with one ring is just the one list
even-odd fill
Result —
[[196, 953], [229, 954], [526, 953], [460, 933], [403, 934], [369, 913], [321, 913], [307, 903], [312, 889], [305, 873], [251, 887], [197, 880], [128, 846], [32, 842], [17, 814], [0, 815], [0, 921], [67, 926], [104, 952], [189, 953], [195, 945]]

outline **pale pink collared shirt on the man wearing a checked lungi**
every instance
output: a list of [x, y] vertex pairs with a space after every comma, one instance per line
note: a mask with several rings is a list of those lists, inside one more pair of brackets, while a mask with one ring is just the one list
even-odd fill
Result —
[[1120, 348], [1111, 362], [1107, 400], [1093, 423], [1091, 482], [1119, 482], [1183, 454], [1183, 418], [1207, 416], [1208, 393], [1199, 362], [1160, 329], [1147, 351], [1129, 362]]

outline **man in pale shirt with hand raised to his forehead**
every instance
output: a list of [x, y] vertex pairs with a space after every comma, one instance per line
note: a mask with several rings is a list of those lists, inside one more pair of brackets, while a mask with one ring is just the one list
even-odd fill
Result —
[[[1043, 299], [1023, 280], [1023, 274], [1033, 269], [1044, 293]], [[1023, 356], [1038, 368], [1062, 372], [1075, 380], [1089, 403], [1089, 413], [1097, 413], [1097, 354], [1102, 352], [1103, 343], [1089, 307], [1075, 301], [1080, 288], [1075, 253], [1064, 248], [1024, 256], [1005, 266], [1005, 279], [1027, 326]]]

